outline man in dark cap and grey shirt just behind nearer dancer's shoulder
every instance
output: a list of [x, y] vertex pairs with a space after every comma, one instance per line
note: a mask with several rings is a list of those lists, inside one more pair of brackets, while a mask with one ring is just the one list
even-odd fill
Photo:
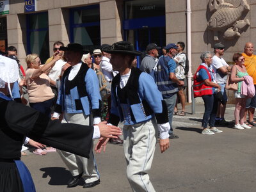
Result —
[[147, 54], [140, 64], [141, 71], [150, 74], [152, 68], [154, 68], [156, 65], [158, 49], [161, 49], [161, 47], [158, 47], [157, 44], [152, 43], [147, 45]]

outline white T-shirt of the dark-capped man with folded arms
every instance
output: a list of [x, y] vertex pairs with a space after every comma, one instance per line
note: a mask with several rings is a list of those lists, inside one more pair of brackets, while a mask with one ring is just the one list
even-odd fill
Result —
[[218, 70], [220, 67], [228, 67], [228, 63], [223, 58], [219, 58], [218, 56], [214, 55], [212, 57], [212, 64], [211, 64], [214, 73], [216, 74], [216, 81], [219, 84], [227, 83], [227, 75], [222, 74], [221, 71]]

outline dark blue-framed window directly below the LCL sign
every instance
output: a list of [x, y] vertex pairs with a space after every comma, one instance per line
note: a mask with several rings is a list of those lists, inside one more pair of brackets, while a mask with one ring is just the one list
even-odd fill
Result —
[[26, 16], [28, 54], [36, 53], [42, 63], [49, 58], [48, 13], [35, 13]]

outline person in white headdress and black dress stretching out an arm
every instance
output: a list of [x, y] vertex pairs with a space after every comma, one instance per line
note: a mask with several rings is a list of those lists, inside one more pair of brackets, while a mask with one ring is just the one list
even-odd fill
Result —
[[[20, 150], [26, 136], [45, 145], [89, 157], [92, 138], [116, 138], [118, 127], [61, 124], [12, 99], [12, 86], [19, 77], [17, 63], [0, 56], [0, 191], [35, 191]], [[10, 95], [10, 97], [8, 97]], [[113, 135], [113, 136], [112, 136]]]

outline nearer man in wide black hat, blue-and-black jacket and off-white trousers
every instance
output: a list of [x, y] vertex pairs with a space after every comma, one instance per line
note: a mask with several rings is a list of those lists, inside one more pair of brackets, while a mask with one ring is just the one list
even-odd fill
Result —
[[111, 85], [113, 102], [108, 122], [112, 125], [124, 122], [127, 178], [133, 191], [155, 191], [148, 171], [154, 157], [158, 131], [161, 152], [169, 147], [168, 109], [154, 79], [132, 65], [135, 56], [142, 52], [135, 51], [129, 42], [116, 42], [103, 51], [111, 53], [110, 63], [113, 70], [119, 72]]

